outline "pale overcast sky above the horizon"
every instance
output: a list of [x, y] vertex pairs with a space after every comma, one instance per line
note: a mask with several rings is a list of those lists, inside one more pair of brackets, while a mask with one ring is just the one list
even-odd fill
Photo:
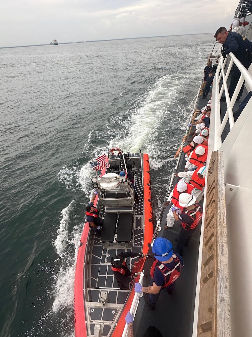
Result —
[[238, 0], [0, 0], [0, 47], [229, 28]]

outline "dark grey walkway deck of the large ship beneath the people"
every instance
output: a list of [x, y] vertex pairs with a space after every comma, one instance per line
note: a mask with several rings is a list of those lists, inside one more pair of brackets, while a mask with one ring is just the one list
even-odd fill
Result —
[[[230, 77], [229, 77], [230, 78]], [[229, 83], [228, 83], [229, 84]], [[221, 84], [220, 84], [221, 85]], [[247, 90], [244, 88], [243, 95], [239, 102], [236, 102], [233, 111], [237, 111], [239, 104], [247, 95]], [[202, 99], [199, 97], [197, 109], [202, 109], [208, 103], [211, 98], [211, 93], [208, 94], [208, 99]], [[223, 120], [226, 112], [226, 102], [220, 102], [221, 121]], [[229, 124], [227, 122], [223, 134], [222, 142], [225, 140], [228, 132], [230, 131]], [[191, 136], [190, 136], [191, 137]], [[186, 143], [188, 144], [188, 143]], [[181, 160], [178, 170], [176, 172], [184, 171], [185, 159]], [[178, 179], [174, 181], [174, 185]], [[168, 239], [173, 247], [176, 246], [176, 237], [179, 233], [178, 222], [175, 221], [172, 228], [163, 230], [166, 222], [166, 214], [168, 213], [170, 205], [166, 207], [162, 222], [160, 226], [162, 231], [158, 236]], [[155, 310], [151, 310], [146, 304], [144, 294], [140, 298], [138, 309], [135, 315], [133, 330], [135, 336], [142, 337], [145, 330], [149, 326], [155, 326], [160, 330], [163, 337], [191, 337], [193, 331], [193, 319], [194, 319], [194, 306], [195, 306], [195, 294], [196, 294], [196, 282], [197, 282], [197, 270], [198, 270], [198, 254], [200, 244], [200, 230], [201, 223], [198, 225], [198, 229], [193, 233], [188, 247], [184, 247], [183, 259], [184, 267], [181, 271], [181, 276], [176, 281], [176, 288], [172, 295], [169, 295], [166, 291], [162, 292], [159, 300], [156, 304]], [[146, 274], [146, 268], [144, 268]], [[145, 277], [143, 281], [144, 286], [149, 286], [150, 277]]]

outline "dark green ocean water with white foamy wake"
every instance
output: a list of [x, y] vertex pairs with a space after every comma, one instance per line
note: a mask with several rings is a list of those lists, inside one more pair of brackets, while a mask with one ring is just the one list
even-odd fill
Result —
[[149, 153], [158, 217], [212, 34], [0, 50], [0, 336], [74, 336], [74, 274], [110, 147]]

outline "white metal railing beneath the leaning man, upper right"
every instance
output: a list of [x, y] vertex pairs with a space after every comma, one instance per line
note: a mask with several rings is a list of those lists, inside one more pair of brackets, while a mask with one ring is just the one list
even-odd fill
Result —
[[[224, 68], [226, 66], [227, 59], [224, 59], [223, 57], [221, 57], [221, 59], [218, 63], [218, 67], [216, 69], [215, 76], [214, 76], [214, 85], [215, 85], [214, 90], [215, 90], [215, 99], [216, 99], [215, 100], [215, 112], [220, 113], [220, 105], [219, 104], [220, 104], [220, 98], [223, 94], [223, 91], [225, 92], [227, 110], [225, 112], [224, 118], [223, 118], [221, 123], [220, 123], [220, 117], [219, 118], [216, 118], [216, 116], [214, 117], [214, 120], [215, 120], [215, 125], [214, 125], [215, 140], [214, 140], [213, 150], [218, 150], [220, 145], [221, 145], [221, 135], [222, 135], [222, 132], [224, 130], [224, 127], [225, 127], [227, 121], [229, 122], [230, 130], [232, 129], [232, 127], [235, 124], [234, 116], [233, 116], [233, 107], [234, 107], [234, 104], [236, 102], [236, 98], [237, 98], [237, 96], [238, 96], [238, 94], [241, 90], [241, 87], [243, 85], [244, 80], [246, 81], [247, 86], [250, 88], [250, 90], [252, 90], [252, 76], [250, 75], [248, 70], [235, 57], [235, 55], [233, 53], [229, 53], [229, 56], [230, 56], [230, 63], [228, 65], [226, 73], [224, 72]], [[228, 93], [228, 87], [227, 87], [227, 79], [229, 78], [229, 74], [230, 74], [230, 71], [231, 71], [234, 63], [236, 64], [236, 66], [240, 70], [241, 76], [240, 76], [240, 79], [239, 79], [238, 84], [236, 86], [236, 89], [234, 91], [234, 94], [233, 94], [232, 98], [230, 99], [229, 93]], [[219, 90], [219, 84], [220, 84], [221, 79], [223, 80], [223, 84], [222, 84], [222, 86]]]

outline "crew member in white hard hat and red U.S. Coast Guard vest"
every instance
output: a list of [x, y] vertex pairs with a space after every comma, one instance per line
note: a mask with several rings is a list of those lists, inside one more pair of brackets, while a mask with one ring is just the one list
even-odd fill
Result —
[[181, 193], [179, 195], [179, 205], [183, 207], [183, 210], [178, 216], [174, 212], [175, 220], [181, 222], [175, 251], [182, 256], [184, 246], [188, 245], [193, 232], [196, 231], [202, 218], [202, 206], [196, 203], [196, 197], [194, 195], [188, 193]]

